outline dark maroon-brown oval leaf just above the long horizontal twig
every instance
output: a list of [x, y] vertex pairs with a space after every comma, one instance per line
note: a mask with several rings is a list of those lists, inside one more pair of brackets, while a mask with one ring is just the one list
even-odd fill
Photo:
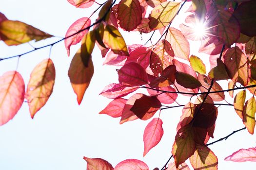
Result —
[[175, 75], [177, 83], [185, 88], [194, 89], [202, 86], [201, 83], [190, 74], [177, 71]]

